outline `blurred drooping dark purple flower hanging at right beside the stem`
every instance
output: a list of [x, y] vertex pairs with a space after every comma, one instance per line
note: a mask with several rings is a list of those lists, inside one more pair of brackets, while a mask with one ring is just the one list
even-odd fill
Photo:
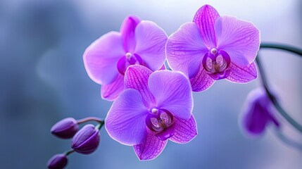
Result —
[[254, 89], [248, 94], [244, 111], [239, 120], [244, 131], [251, 137], [263, 134], [270, 123], [276, 127], [280, 126], [275, 108], [265, 89]]

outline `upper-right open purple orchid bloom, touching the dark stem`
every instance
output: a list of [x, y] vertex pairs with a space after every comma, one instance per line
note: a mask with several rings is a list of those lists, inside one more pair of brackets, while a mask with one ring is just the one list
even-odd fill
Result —
[[170, 35], [166, 46], [168, 64], [201, 92], [215, 80], [246, 83], [256, 79], [254, 63], [260, 46], [260, 32], [253, 23], [221, 16], [205, 5], [195, 13], [193, 22], [184, 23]]

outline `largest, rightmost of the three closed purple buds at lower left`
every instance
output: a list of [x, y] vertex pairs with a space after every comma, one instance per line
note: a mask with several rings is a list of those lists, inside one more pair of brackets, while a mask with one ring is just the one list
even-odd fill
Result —
[[80, 154], [91, 154], [99, 146], [100, 134], [94, 125], [85, 125], [73, 137], [71, 148]]

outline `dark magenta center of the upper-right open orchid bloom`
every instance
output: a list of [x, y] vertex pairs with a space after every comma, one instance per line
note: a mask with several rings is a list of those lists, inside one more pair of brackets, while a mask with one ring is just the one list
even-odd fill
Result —
[[231, 58], [227, 52], [218, 49], [211, 49], [203, 57], [203, 68], [207, 71], [208, 75], [214, 80], [224, 79], [229, 76], [229, 64]]

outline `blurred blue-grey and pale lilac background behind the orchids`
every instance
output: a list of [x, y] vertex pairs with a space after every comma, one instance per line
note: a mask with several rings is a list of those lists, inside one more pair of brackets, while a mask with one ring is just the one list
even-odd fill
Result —
[[[100, 86], [89, 79], [82, 62], [95, 39], [118, 31], [129, 14], [153, 20], [170, 35], [203, 4], [255, 23], [262, 41], [302, 46], [299, 0], [1, 0], [0, 168], [46, 168], [51, 156], [70, 149], [70, 140], [51, 136], [56, 121], [106, 116], [111, 102], [101, 99]], [[260, 53], [282, 105], [302, 123], [301, 58]], [[260, 139], [241, 132], [241, 106], [259, 84], [221, 80], [194, 94], [199, 135], [189, 144], [169, 142], [153, 161], [139, 161], [132, 147], [113, 141], [102, 129], [99, 149], [89, 156], [70, 155], [67, 168], [302, 168], [301, 151], [280, 141], [272, 126]], [[284, 133], [302, 142], [291, 127], [284, 126]]]

